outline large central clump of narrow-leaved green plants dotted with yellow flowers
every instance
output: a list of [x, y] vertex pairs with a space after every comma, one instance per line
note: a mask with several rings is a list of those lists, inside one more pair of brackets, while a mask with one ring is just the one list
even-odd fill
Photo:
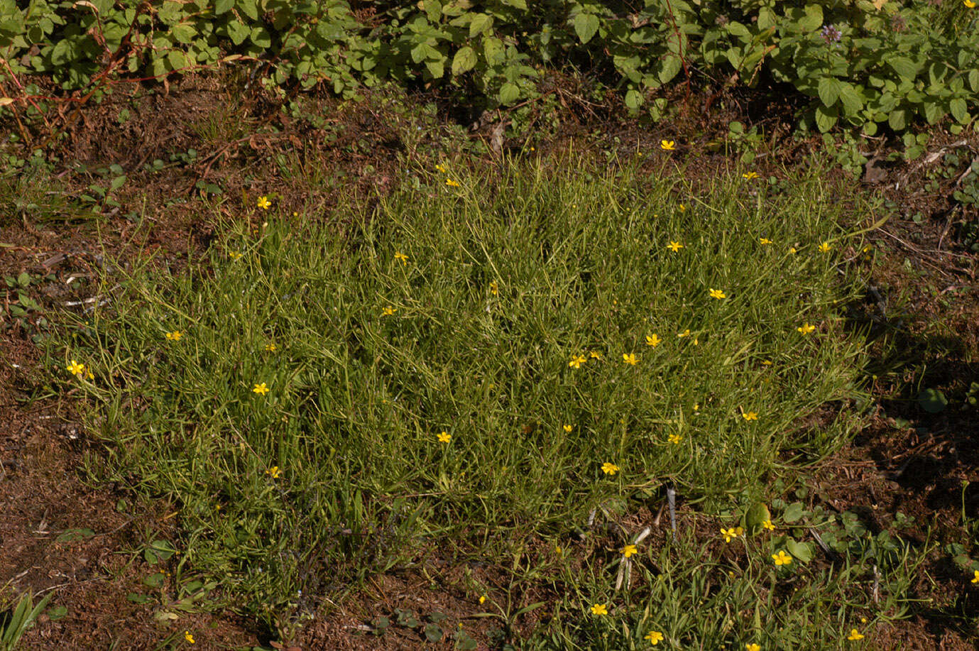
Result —
[[415, 178], [369, 218], [227, 223], [50, 349], [86, 365], [61, 372], [102, 475], [173, 498], [184, 562], [246, 608], [422, 545], [563, 535], [665, 483], [730, 503], [845, 440], [848, 418], [801, 428], [853, 395], [862, 349], [816, 177]]

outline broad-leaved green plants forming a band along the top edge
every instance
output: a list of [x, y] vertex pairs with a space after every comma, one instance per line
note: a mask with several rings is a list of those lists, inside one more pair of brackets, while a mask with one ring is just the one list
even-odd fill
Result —
[[[16, 73], [66, 89], [119, 74], [155, 78], [236, 62], [269, 84], [326, 83], [351, 96], [394, 79], [446, 83], [493, 108], [536, 96], [543, 67], [578, 67], [658, 118], [663, 84], [692, 75], [811, 98], [804, 121], [868, 135], [979, 102], [979, 8], [834, 0], [0, 0], [0, 51]], [[881, 5], [878, 9], [876, 5]]]

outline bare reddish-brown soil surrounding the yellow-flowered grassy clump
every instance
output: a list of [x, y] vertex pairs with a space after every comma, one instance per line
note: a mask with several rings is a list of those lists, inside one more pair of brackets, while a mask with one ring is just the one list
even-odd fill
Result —
[[[556, 82], [558, 89], [563, 88], [560, 82]], [[435, 117], [419, 121], [410, 117], [411, 112], [386, 105], [382, 98], [350, 106], [329, 98], [307, 98], [306, 113], [296, 117], [280, 112], [268, 98], [226, 88], [220, 79], [192, 78], [172, 86], [165, 95], [118, 94], [82, 112], [58, 154], [62, 161], [81, 163], [85, 169], [66, 166], [62, 190], [77, 197], [99, 180], [90, 170], [118, 163], [128, 175], [118, 193], [125, 208], [110, 209], [98, 221], [79, 211], [56, 220], [37, 212], [45, 207], [54, 212], [57, 207], [54, 199], [42, 197], [43, 201], [35, 202], [40, 209], [21, 210], [19, 221], [12, 217], [0, 221], [0, 241], [13, 245], [0, 249], [0, 275], [54, 273], [57, 279], [40, 285], [42, 296], [37, 297], [54, 317], [66, 302], [92, 296], [91, 283], [66, 284], [72, 275], [92, 278], [100, 265], [113, 260], [125, 264], [132, 256], [147, 253], [169, 262], [195, 256], [208, 246], [216, 219], [255, 218], [253, 195], [268, 193], [269, 188], [276, 190], [283, 209], [322, 214], [350, 192], [366, 197], [394, 187], [398, 156], [421, 162], [430, 161], [432, 153], [452, 155], [452, 140], [443, 137], [450, 125]], [[569, 115], [554, 138], [536, 143], [504, 141], [504, 149], [516, 151], [536, 144], [541, 150], [537, 155], [545, 156], [591, 132], [596, 119], [615, 115], [611, 109], [595, 114], [589, 103], [576, 103], [574, 89], [561, 92]], [[422, 103], [419, 98], [402, 101]], [[123, 109], [129, 116], [120, 120]], [[726, 130], [729, 119], [750, 110], [737, 98], [727, 97], [714, 104], [711, 116], [681, 116], [672, 130], [663, 127], [660, 133], [616, 122], [607, 126], [602, 139], [589, 141], [589, 147], [654, 151], [660, 137], [706, 143]], [[783, 128], [778, 120], [784, 115], [785, 111], [776, 112], [769, 131]], [[473, 137], [491, 142], [499, 133], [498, 117], [483, 116]], [[536, 119], [532, 116], [532, 121]], [[424, 135], [417, 135], [419, 127]], [[699, 146], [677, 153], [688, 165], [691, 179], [709, 179], [729, 164], [720, 155], [698, 154]], [[777, 173], [779, 164], [798, 160], [812, 146], [803, 143], [785, 150], [781, 160], [768, 160], [759, 171]], [[979, 151], [975, 142], [971, 146]], [[170, 162], [171, 155], [190, 149], [197, 151], [196, 159]], [[276, 163], [280, 156], [307, 172], [318, 171], [289, 177], [284, 173], [288, 166]], [[163, 170], [144, 169], [157, 159], [165, 163]], [[907, 207], [905, 216], [923, 211], [930, 217], [922, 225], [896, 219], [873, 235], [877, 264], [867, 281], [878, 295], [855, 309], [854, 324], [868, 328], [877, 338], [867, 369], [877, 376], [872, 383], [876, 413], [855, 442], [821, 462], [810, 495], [826, 508], [857, 509], [878, 527], [900, 511], [916, 519], [907, 533], [911, 539], [923, 544], [930, 526], [941, 544], [958, 542], [969, 549], [972, 542], [961, 513], [979, 517], [979, 412], [960, 406], [969, 382], [979, 381], [977, 256], [956, 249], [948, 192], [929, 195], [909, 180], [913, 171], [913, 165], [896, 165], [874, 179], [885, 188], [883, 194]], [[309, 177], [318, 182], [307, 182]], [[200, 215], [208, 211], [193, 201], [202, 195], [196, 185], [202, 178], [219, 184], [223, 191], [211, 198], [216, 208], [204, 218]], [[903, 181], [902, 190], [886, 189], [896, 180]], [[129, 213], [129, 209], [139, 212]], [[74, 308], [84, 308], [84, 303]], [[8, 586], [0, 590], [0, 609], [30, 590], [53, 592], [51, 607], [65, 606], [68, 612], [57, 621], [42, 616], [24, 637], [24, 647], [157, 648], [167, 640], [181, 643], [184, 630], [193, 631], [195, 648], [251, 648], [276, 642], [278, 636], [272, 631], [219, 608], [202, 613], [167, 609], [177, 587], [172, 577], [159, 588], [143, 583], [161, 566], [148, 565], [142, 549], [151, 539], [174, 535], [172, 513], [159, 501], [132, 504], [126, 501], [130, 495], [115, 487], [87, 486], [80, 479], [85, 455], [98, 450], [90, 447], [84, 426], [72, 411], [71, 396], [50, 395], [45, 389], [42, 352], [30, 343], [38, 332], [37, 316], [31, 322], [26, 328], [0, 329], [5, 361], [0, 365], [0, 423], [6, 426], [0, 429], [0, 512], [4, 514], [0, 585]], [[924, 413], [915, 399], [919, 386], [941, 389], [949, 396], [950, 407], [937, 415]], [[972, 484], [963, 488], [964, 481]], [[645, 521], [634, 523], [636, 531], [653, 518], [652, 514], [644, 517]], [[70, 530], [85, 529], [94, 535], [59, 541]], [[162, 567], [172, 572], [176, 561]], [[366, 589], [307, 622], [292, 643], [305, 649], [423, 648], [428, 646], [424, 625], [433, 614], [442, 614], [443, 630], [454, 631], [463, 624], [480, 640], [479, 648], [489, 648], [491, 640], [501, 639], [493, 636], [492, 629], [502, 624], [475, 617], [486, 609], [463, 571], [468, 568], [479, 581], [496, 586], [499, 593], [490, 597], [497, 599], [505, 596], [506, 573], [478, 564], [464, 566], [432, 554], [415, 569], [376, 577]], [[941, 547], [924, 569], [930, 581], [922, 576], [914, 589], [931, 603], [914, 605], [911, 618], [899, 626], [875, 631], [880, 648], [976, 648], [976, 631], [971, 627], [979, 621], [979, 587], [968, 581]], [[130, 593], [152, 598], [135, 603], [127, 598]], [[513, 598], [519, 608], [546, 601], [548, 594], [541, 587], [538, 593]], [[371, 634], [376, 617], [386, 616], [395, 623], [398, 609], [411, 611], [421, 626], [393, 624], [385, 635]], [[518, 620], [510, 636], [519, 639], [522, 632], [530, 632], [546, 610], [547, 606]], [[161, 612], [172, 612], [176, 619], [161, 620], [156, 617]], [[440, 644], [451, 648], [448, 640]]]

